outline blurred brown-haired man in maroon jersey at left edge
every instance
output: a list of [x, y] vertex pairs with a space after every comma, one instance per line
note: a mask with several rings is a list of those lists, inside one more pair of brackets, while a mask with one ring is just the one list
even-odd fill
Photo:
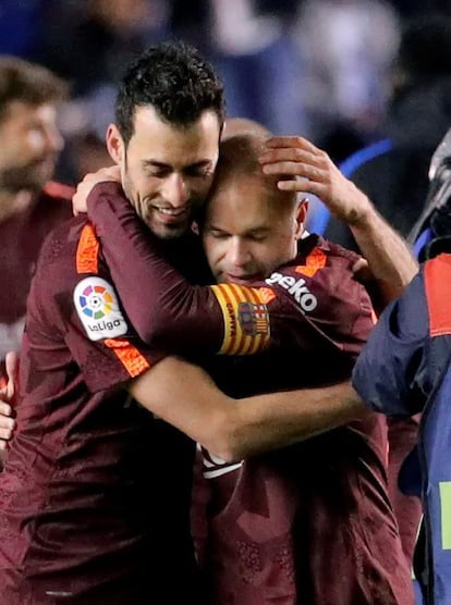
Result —
[[0, 360], [19, 351], [41, 244], [71, 215], [72, 189], [51, 182], [63, 140], [66, 84], [37, 64], [0, 57]]

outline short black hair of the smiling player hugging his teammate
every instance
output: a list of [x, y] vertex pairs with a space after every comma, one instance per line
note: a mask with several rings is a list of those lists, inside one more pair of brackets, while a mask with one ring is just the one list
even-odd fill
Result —
[[134, 133], [137, 107], [151, 106], [175, 126], [196, 122], [211, 110], [224, 120], [223, 86], [212, 66], [194, 47], [181, 41], [155, 45], [132, 63], [115, 102], [115, 123], [125, 145]]

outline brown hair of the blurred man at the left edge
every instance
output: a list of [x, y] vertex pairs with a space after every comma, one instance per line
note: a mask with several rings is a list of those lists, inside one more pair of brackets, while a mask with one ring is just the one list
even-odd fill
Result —
[[0, 57], [0, 120], [13, 101], [40, 106], [61, 101], [68, 94], [68, 84], [46, 67], [16, 57]]

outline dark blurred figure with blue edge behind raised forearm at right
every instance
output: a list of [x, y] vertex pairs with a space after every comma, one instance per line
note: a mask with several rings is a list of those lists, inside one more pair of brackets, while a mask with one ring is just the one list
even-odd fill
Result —
[[[383, 126], [386, 146], [370, 146], [366, 157], [357, 152], [345, 162], [349, 177], [404, 237], [422, 213], [430, 159], [450, 124], [451, 16], [423, 16], [402, 33]], [[358, 250], [348, 226], [337, 220], [330, 220], [326, 235]]]

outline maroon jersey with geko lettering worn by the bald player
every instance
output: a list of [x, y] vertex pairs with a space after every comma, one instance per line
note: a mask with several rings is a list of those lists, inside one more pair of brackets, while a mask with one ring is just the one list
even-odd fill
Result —
[[[166, 262], [114, 185], [97, 186], [88, 210], [139, 334], [191, 355], [227, 354], [202, 362], [230, 395], [350, 376], [373, 326], [368, 296], [353, 279], [352, 252], [309, 236], [298, 257], [263, 283], [202, 288]], [[123, 255], [133, 259], [126, 274]], [[148, 301], [139, 313], [136, 283]], [[411, 605], [386, 458], [382, 417], [243, 464], [206, 455], [210, 602]]]

